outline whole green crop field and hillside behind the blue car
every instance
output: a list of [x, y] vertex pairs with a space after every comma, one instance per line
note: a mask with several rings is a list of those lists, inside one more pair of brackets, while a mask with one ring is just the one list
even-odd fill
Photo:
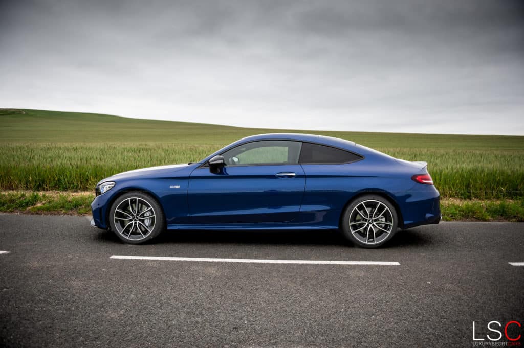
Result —
[[25, 109], [0, 109], [0, 189], [91, 191], [118, 172], [198, 161], [239, 138], [283, 131], [426, 161], [444, 197], [524, 198], [524, 137], [253, 129]]

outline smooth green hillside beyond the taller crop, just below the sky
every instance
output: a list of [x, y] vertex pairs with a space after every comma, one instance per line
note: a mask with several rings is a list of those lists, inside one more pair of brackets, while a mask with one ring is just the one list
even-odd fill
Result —
[[[246, 117], [249, 117], [246, 115]], [[0, 143], [180, 143], [224, 145], [260, 133], [312, 133], [373, 148], [524, 150], [524, 137], [241, 128], [61, 111], [0, 109]], [[220, 120], [217, 120], [219, 123]], [[350, 123], [351, 120], [348, 120]]]

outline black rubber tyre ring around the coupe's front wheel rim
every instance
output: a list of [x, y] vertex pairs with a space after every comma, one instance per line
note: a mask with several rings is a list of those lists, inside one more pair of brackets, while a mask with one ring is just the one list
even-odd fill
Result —
[[[115, 214], [116, 207], [118, 207], [118, 205], [121, 204], [122, 201], [130, 197], [138, 197], [138, 198], [146, 200], [147, 203], [149, 203], [149, 205], [153, 208], [153, 211], [155, 212], [155, 216], [157, 217], [155, 219], [155, 227], [153, 228], [151, 233], [149, 233], [149, 235], [144, 239], [140, 239], [140, 240], [127, 239], [122, 234], [118, 233], [115, 227], [113, 216]], [[113, 204], [111, 205], [111, 208], [109, 211], [109, 225], [111, 227], [111, 230], [116, 234], [116, 237], [118, 237], [123, 242], [128, 243], [128, 244], [141, 244], [141, 243], [145, 243], [157, 237], [166, 228], [166, 219], [164, 217], [162, 207], [160, 206], [160, 204], [154, 197], [152, 197], [149, 194], [143, 193], [143, 192], [132, 191], [132, 192], [127, 192], [121, 196], [118, 196], [113, 201]]]

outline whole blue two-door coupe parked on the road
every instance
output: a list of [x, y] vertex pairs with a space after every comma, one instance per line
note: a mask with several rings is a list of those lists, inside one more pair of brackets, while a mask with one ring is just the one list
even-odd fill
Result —
[[310, 134], [247, 137], [199, 162], [113, 175], [95, 191], [92, 226], [132, 244], [166, 228], [339, 229], [376, 248], [441, 219], [427, 163]]

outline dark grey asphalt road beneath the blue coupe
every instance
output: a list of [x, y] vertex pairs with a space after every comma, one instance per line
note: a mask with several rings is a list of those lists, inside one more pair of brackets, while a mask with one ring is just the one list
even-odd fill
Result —
[[520, 223], [441, 223], [365, 250], [322, 231], [167, 232], [126, 245], [85, 217], [2, 214], [0, 250], [2, 347], [472, 346], [473, 321], [487, 342], [493, 320], [522, 323], [508, 334], [524, 346], [524, 266], [508, 264], [524, 262]]

